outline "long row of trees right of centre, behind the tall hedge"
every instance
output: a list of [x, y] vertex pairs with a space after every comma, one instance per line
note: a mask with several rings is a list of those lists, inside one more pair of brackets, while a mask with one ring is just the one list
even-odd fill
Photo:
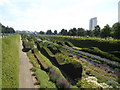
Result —
[[120, 39], [120, 23], [117, 22], [113, 24], [112, 27], [107, 24], [102, 29], [99, 25], [97, 25], [94, 30], [85, 30], [84, 28], [72, 28], [70, 30], [62, 29], [60, 32], [57, 32], [57, 30], [54, 30], [54, 32], [52, 32], [52, 30], [47, 30], [46, 32], [40, 31], [39, 34], [101, 37], [105, 39], [107, 37], [112, 37], [115, 39]]

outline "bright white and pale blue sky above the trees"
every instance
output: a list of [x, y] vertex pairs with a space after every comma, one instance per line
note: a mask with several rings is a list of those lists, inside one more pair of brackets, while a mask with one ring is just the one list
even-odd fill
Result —
[[103, 28], [118, 21], [119, 0], [0, 0], [0, 22], [15, 30], [89, 29], [97, 17]]

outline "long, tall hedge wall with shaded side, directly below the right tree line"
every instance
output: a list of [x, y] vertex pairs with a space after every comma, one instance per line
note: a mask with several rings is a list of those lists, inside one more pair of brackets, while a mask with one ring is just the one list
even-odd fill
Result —
[[98, 47], [99, 49], [110, 52], [120, 51], [120, 40], [104, 40], [100, 38], [81, 38], [81, 37], [67, 37], [67, 36], [53, 36], [53, 35], [39, 35], [38, 37], [46, 40], [54, 41], [69, 41], [73, 45], [80, 48]]

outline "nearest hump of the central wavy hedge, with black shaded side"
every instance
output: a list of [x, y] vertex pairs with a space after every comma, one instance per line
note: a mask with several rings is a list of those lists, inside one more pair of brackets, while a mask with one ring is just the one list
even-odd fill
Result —
[[82, 65], [80, 61], [63, 54], [56, 54], [56, 59], [61, 65], [60, 68], [72, 79], [82, 77]]

